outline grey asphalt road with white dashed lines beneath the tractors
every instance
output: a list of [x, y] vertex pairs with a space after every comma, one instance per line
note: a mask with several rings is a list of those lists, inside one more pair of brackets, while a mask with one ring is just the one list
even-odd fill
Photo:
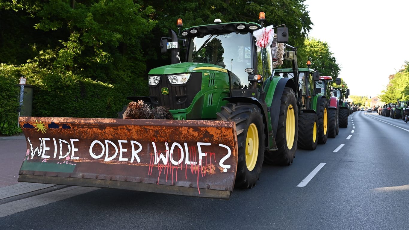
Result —
[[0, 229], [407, 229], [408, 139], [402, 120], [358, 111], [336, 138], [297, 150], [289, 167], [264, 165], [257, 185], [229, 200], [67, 187], [13, 201], [30, 208], [0, 217]]

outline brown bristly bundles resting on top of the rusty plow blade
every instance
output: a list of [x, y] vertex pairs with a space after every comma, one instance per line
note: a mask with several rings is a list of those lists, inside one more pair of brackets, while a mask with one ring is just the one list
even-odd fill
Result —
[[149, 108], [142, 100], [131, 101], [128, 104], [124, 114], [124, 119], [163, 119], [173, 120], [172, 113], [164, 106], [158, 106], [154, 109]]

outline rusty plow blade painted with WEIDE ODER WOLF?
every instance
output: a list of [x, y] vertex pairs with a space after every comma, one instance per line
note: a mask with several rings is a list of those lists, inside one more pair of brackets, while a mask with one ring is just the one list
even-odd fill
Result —
[[234, 122], [20, 117], [18, 181], [228, 199]]

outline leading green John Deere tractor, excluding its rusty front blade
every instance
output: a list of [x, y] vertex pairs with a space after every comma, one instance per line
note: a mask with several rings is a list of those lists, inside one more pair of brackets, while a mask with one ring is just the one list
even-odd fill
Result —
[[[296, 48], [284, 44], [288, 28], [262, 25], [215, 20], [183, 29], [183, 38], [170, 31], [161, 47], [171, 50], [171, 65], [149, 71], [148, 97], [128, 97], [153, 108], [165, 106], [175, 120], [234, 122], [239, 188], [255, 185], [263, 162], [290, 165], [297, 149], [298, 78], [277, 76], [273, 68], [274, 61], [286, 59], [297, 76]], [[257, 31], [273, 35], [274, 29], [274, 42], [260, 46]], [[179, 55], [181, 43], [186, 45], [185, 61]]]

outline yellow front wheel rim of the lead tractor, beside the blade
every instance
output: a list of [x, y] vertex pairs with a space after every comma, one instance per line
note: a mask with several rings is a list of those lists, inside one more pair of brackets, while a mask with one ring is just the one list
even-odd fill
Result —
[[246, 166], [249, 171], [252, 171], [257, 163], [258, 142], [257, 126], [252, 123], [247, 130], [246, 137]]

